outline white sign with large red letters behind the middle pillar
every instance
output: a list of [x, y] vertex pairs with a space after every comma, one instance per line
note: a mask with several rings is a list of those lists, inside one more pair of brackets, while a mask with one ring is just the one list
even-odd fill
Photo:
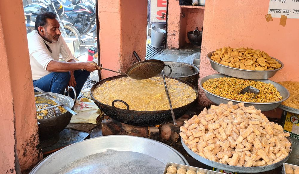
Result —
[[150, 23], [166, 22], [167, 0], [150, 0]]

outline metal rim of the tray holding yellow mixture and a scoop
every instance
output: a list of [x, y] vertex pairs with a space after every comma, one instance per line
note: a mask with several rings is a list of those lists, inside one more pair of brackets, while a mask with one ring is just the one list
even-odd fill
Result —
[[[222, 77], [231, 77], [231, 76], [228, 76], [228, 75], [225, 75], [225, 74], [211, 74], [211, 75], [205, 76], [205, 77], [203, 77], [202, 79], [200, 79], [200, 81], [199, 81], [199, 85], [200, 85], [200, 87], [202, 88], [202, 90], [204, 90], [204, 91], [207, 92], [208, 94], [211, 94], [211, 95], [213, 95], [213, 96], [215, 96], [215, 97], [219, 97], [219, 98], [222, 98], [222, 99], [225, 99], [225, 100], [229, 100], [229, 101], [232, 101], [232, 102], [239, 102], [239, 103], [241, 103], [242, 101], [232, 100], [232, 99], [228, 99], [228, 98], [221, 97], [221, 96], [219, 96], [219, 95], [213, 94], [213, 93], [207, 91], [207, 90], [202, 86], [202, 84], [204, 83], [204, 82], [203, 82], [203, 79], [204, 79], [204, 78], [209, 77], [209, 76], [215, 76], [215, 75], [220, 75], [220, 76], [222, 76]], [[221, 78], [221, 77], [216, 77], [216, 78]], [[231, 78], [237, 78], [237, 77], [231, 77]], [[212, 79], [212, 78], [209, 78], [209, 79]], [[215, 79], [215, 78], [213, 78], [213, 79]], [[241, 78], [238, 78], [238, 79], [241, 79]], [[252, 80], [252, 79], [248, 79], [248, 80]], [[259, 79], [259, 80], [254, 80], [254, 81], [260, 81], [260, 82], [262, 82], [261, 80], [269, 80], [269, 79]], [[279, 83], [276, 83], [276, 82], [274, 82], [274, 81], [272, 81], [272, 80], [269, 80], [269, 81], [275, 83], [275, 85], [276, 85], [276, 84], [277, 84], [277, 85], [280, 85]], [[266, 83], [266, 82], [264, 82], [264, 83]], [[271, 83], [271, 84], [273, 84], [273, 83]], [[282, 86], [282, 85], [280, 85], [280, 86]], [[282, 87], [285, 88], [284, 86], [282, 86]], [[285, 89], [286, 89], [286, 88], [285, 88]], [[287, 97], [284, 98], [284, 99], [282, 99], [282, 100], [280, 100], [280, 101], [276, 101], [276, 102], [268, 102], [268, 103], [256, 103], [256, 102], [242, 102], [242, 103], [253, 104], [253, 105], [271, 105], [271, 104], [281, 103], [281, 102], [287, 100], [287, 99], [290, 97], [289, 90], [286, 89], [286, 91], [288, 91], [288, 95], [287, 95]], [[279, 91], [278, 91], [278, 92], [279, 92]]]

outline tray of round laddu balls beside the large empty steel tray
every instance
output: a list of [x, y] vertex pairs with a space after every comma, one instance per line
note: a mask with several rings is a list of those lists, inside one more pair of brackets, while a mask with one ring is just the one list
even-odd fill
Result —
[[163, 174], [222, 174], [212, 170], [168, 162]]

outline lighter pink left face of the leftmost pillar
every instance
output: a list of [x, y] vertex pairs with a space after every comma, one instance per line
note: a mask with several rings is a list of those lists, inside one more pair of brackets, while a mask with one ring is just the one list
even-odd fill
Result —
[[[10, 75], [7, 63], [6, 48], [4, 45], [4, 35], [0, 15], [0, 173], [16, 173], [15, 165], [15, 136], [14, 136], [14, 114], [13, 114], [13, 97], [10, 85]], [[5, 108], [5, 109], [4, 109]]]

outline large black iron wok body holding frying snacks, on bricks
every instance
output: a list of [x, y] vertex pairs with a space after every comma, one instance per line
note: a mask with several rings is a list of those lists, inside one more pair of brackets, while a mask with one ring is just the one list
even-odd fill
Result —
[[[110, 105], [103, 104], [103, 103], [97, 101], [93, 97], [93, 91], [97, 86], [105, 83], [108, 80], [114, 80], [114, 79], [118, 79], [121, 77], [126, 77], [126, 75], [118, 75], [118, 76], [113, 76], [113, 77], [103, 79], [103, 80], [97, 82], [96, 84], [94, 84], [94, 86], [92, 86], [92, 88], [90, 89], [90, 95], [91, 95], [92, 100], [107, 116], [109, 116], [112, 119], [115, 119], [119, 122], [123, 122], [123, 123], [129, 124], [129, 125], [135, 125], [135, 126], [155, 126], [155, 125], [161, 125], [164, 123], [168, 123], [173, 120], [172, 116], [171, 116], [170, 109], [164, 110], [164, 111], [135, 111], [135, 110], [130, 110], [129, 105], [126, 103], [125, 103], [125, 105], [128, 108], [120, 109], [120, 108], [112, 107]], [[174, 77], [168, 77], [168, 76], [166, 76], [166, 77], [176, 79], [182, 83], [185, 83], [185, 84], [191, 86], [196, 91], [196, 94], [198, 95], [197, 89], [190, 83], [188, 83], [184, 80], [181, 80], [181, 79], [174, 78]], [[198, 97], [196, 97], [196, 99], [193, 102], [191, 102], [187, 105], [173, 109], [176, 119], [178, 119], [183, 114], [185, 114], [197, 102], [197, 98]], [[119, 101], [119, 100], [114, 100], [112, 103], [114, 104], [114, 102], [116, 102], [116, 101]]]

